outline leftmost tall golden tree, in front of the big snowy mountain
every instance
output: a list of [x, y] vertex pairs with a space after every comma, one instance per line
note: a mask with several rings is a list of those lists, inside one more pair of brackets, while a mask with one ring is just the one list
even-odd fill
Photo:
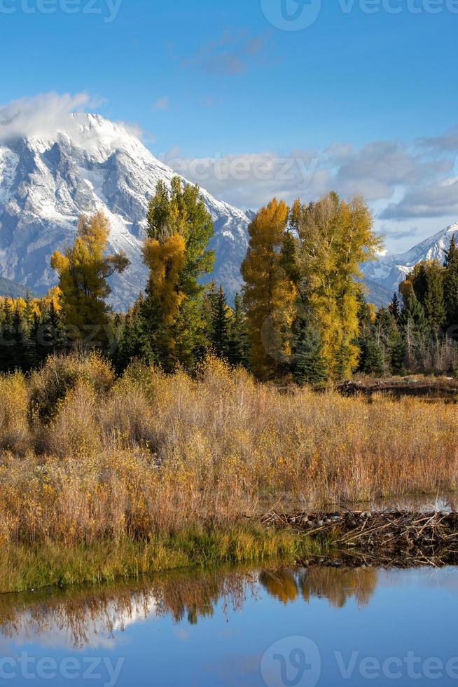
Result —
[[51, 267], [59, 274], [64, 320], [72, 336], [102, 346], [109, 339], [106, 297], [111, 288], [107, 280], [129, 265], [123, 252], [106, 254], [109, 232], [108, 219], [102, 212], [92, 217], [82, 215], [74, 245], [51, 257]]

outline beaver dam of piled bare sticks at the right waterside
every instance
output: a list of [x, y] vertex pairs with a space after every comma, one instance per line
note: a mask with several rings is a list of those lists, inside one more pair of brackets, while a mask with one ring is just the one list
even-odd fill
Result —
[[458, 564], [458, 512], [270, 512], [261, 522], [328, 543], [328, 556], [303, 564], [403, 568]]

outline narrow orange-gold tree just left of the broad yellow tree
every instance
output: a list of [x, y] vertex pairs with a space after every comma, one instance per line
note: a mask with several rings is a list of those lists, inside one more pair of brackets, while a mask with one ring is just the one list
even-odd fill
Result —
[[282, 254], [288, 217], [288, 206], [276, 198], [258, 212], [249, 226], [249, 247], [242, 264], [251, 365], [261, 379], [282, 372], [291, 355], [297, 291]]

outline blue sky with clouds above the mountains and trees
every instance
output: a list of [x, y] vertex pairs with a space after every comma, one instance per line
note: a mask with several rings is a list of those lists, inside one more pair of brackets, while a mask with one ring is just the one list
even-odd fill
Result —
[[[0, 0], [0, 26], [1, 104], [88, 93], [231, 203], [361, 191], [391, 250], [458, 220], [457, 0]], [[306, 173], [209, 162], [260, 156]]]

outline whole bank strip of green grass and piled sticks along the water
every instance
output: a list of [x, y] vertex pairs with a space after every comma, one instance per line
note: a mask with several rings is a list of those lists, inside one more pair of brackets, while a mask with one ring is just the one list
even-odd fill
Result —
[[139, 580], [151, 573], [233, 564], [306, 568], [458, 565], [458, 513], [270, 512], [228, 529], [186, 529], [148, 541], [63, 547], [11, 543], [0, 550], [0, 594]]

